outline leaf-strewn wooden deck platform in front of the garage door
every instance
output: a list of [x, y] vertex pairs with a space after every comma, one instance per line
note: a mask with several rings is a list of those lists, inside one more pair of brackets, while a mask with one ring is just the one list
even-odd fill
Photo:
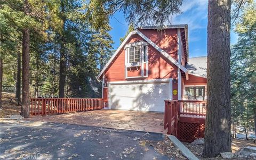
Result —
[[164, 113], [121, 110], [95, 110], [31, 117], [31, 121], [88, 125], [113, 129], [166, 133]]

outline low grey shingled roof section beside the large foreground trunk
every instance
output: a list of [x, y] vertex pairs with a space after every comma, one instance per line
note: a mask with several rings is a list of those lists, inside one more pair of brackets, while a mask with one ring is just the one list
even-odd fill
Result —
[[189, 58], [186, 68], [188, 69], [189, 74], [207, 78], [207, 56]]

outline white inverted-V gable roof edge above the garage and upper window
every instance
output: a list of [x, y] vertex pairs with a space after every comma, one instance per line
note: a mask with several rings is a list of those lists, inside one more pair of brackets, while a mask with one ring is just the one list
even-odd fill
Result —
[[117, 54], [119, 53], [119, 51], [124, 47], [124, 45], [126, 44], [127, 40], [129, 40], [129, 38], [132, 35], [138, 34], [140, 37], [142, 37], [143, 39], [145, 39], [147, 41], [147, 43], [149, 43], [151, 46], [153, 46], [154, 48], [156, 48], [158, 50], [159, 53], [161, 53], [165, 58], [167, 58], [167, 60], [169, 60], [170, 62], [172, 62], [173, 64], [175, 64], [176, 66], [178, 66], [178, 68], [180, 68], [183, 72], [185, 72], [186, 74], [186, 78], [188, 79], [188, 70], [182, 66], [179, 62], [177, 62], [176, 60], [174, 60], [173, 57], [171, 57], [169, 54], [167, 54], [162, 48], [158, 47], [155, 43], [153, 43], [153, 41], [151, 41], [148, 37], [146, 37], [145, 35], [143, 35], [142, 32], [140, 32], [139, 30], [134, 30], [132, 32], [129, 33], [129, 35], [124, 39], [123, 43], [118, 47], [118, 49], [116, 50], [116, 52], [114, 53], [114, 55], [110, 58], [110, 60], [108, 61], [108, 63], [106, 64], [106, 66], [102, 69], [102, 71], [100, 72], [100, 74], [98, 75], [98, 78], [101, 77], [101, 75], [103, 74], [103, 72], [105, 72], [106, 69], [109, 68], [109, 65], [111, 63], [113, 63], [112, 61], [114, 60], [114, 58], [117, 56]]

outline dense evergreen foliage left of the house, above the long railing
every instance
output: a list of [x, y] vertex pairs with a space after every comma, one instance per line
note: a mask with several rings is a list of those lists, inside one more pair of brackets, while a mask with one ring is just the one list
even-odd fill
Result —
[[[86, 21], [85, 1], [4, 0], [0, 5], [3, 85], [17, 82], [22, 30], [30, 31], [30, 97], [58, 97], [61, 53], [66, 58], [65, 97], [101, 97], [98, 75], [113, 53], [110, 27], [95, 31]], [[98, 91], [97, 91], [97, 89]]]

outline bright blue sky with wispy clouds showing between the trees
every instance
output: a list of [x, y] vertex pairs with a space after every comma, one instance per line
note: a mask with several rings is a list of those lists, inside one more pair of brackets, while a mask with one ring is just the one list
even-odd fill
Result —
[[[180, 8], [183, 13], [172, 18], [172, 24], [188, 24], [189, 57], [207, 55], [207, 0], [185, 0]], [[128, 23], [122, 13], [117, 12], [110, 19], [112, 36], [117, 49], [120, 38], [124, 37]], [[231, 31], [231, 44], [237, 42], [237, 35]]]

